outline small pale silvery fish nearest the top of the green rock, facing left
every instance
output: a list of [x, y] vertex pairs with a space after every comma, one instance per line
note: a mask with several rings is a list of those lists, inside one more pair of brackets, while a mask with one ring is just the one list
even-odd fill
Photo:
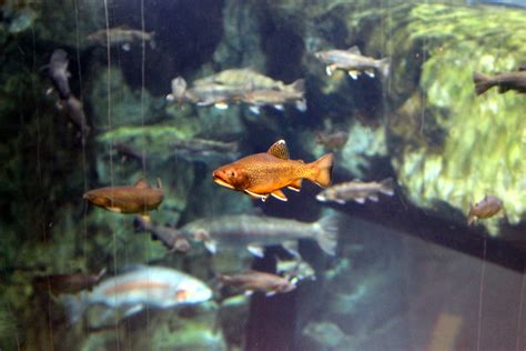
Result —
[[318, 51], [314, 56], [326, 64], [325, 71], [328, 76], [335, 70], [343, 70], [353, 79], [357, 79], [362, 72], [373, 78], [375, 76], [375, 69], [377, 69], [384, 78], [390, 76], [390, 58], [376, 60], [365, 57], [357, 47], [352, 47], [348, 50]]

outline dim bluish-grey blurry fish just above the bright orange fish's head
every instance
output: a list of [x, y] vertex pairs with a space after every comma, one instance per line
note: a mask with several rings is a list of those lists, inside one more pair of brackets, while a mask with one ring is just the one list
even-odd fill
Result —
[[209, 162], [210, 159], [232, 160], [237, 156], [236, 141], [224, 142], [219, 140], [191, 138], [179, 139], [171, 143], [175, 154], [188, 160]]

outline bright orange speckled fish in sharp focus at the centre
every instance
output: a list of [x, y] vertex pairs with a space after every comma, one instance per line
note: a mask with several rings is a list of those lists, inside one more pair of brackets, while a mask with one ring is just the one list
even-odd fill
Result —
[[327, 187], [332, 168], [332, 153], [311, 163], [290, 160], [285, 141], [279, 140], [266, 152], [251, 154], [216, 169], [213, 179], [220, 185], [244, 191], [263, 201], [269, 195], [286, 201], [282, 188], [300, 191], [304, 178], [320, 187]]

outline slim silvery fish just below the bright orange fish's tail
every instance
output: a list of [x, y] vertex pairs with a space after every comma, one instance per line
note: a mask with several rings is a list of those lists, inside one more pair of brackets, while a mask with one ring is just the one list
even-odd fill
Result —
[[384, 179], [381, 182], [348, 181], [325, 189], [316, 195], [316, 200], [321, 202], [334, 201], [341, 204], [348, 200], [358, 203], [364, 203], [367, 199], [378, 201], [378, 193], [392, 197], [394, 194], [393, 188], [392, 178]]

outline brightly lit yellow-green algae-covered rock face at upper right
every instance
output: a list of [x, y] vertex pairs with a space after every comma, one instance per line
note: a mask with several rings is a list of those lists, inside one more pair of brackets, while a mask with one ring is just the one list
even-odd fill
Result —
[[[477, 98], [472, 74], [517, 69], [526, 56], [520, 46], [526, 36], [524, 12], [421, 4], [409, 19], [411, 40], [426, 39], [429, 53], [418, 84], [427, 110], [423, 128], [431, 119], [446, 137], [442, 152], [404, 148], [395, 156], [398, 180], [416, 203], [427, 208], [442, 200], [464, 212], [469, 203], [495, 194], [503, 199], [508, 221], [517, 223], [526, 211], [520, 185], [526, 170], [526, 101], [495, 89]], [[419, 114], [415, 110], [407, 118]], [[494, 234], [495, 221], [498, 218], [488, 227]]]

